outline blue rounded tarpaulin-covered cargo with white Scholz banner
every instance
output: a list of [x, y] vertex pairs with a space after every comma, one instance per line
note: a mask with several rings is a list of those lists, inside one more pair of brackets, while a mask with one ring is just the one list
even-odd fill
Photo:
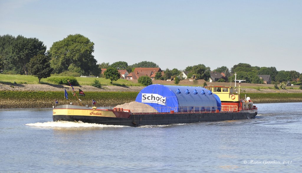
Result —
[[140, 91], [135, 101], [148, 104], [158, 112], [215, 111], [221, 107], [216, 94], [203, 87], [192, 86], [149, 85]]

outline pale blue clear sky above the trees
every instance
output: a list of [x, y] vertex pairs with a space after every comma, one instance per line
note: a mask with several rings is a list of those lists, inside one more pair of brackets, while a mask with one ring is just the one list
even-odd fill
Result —
[[98, 63], [249, 63], [302, 73], [301, 9], [301, 0], [0, 0], [0, 35], [38, 38], [49, 50], [81, 34]]

